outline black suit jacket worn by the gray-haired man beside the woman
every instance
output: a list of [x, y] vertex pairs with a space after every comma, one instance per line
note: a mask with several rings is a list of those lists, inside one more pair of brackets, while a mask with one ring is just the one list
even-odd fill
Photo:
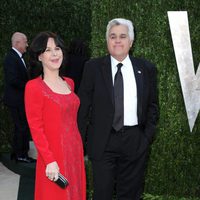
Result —
[[[131, 56], [130, 59], [137, 85], [138, 125], [151, 143], [158, 120], [156, 68], [146, 60]], [[100, 159], [109, 139], [114, 114], [109, 55], [86, 63], [78, 95], [81, 102], [78, 125], [83, 142], [87, 139], [89, 157]]]

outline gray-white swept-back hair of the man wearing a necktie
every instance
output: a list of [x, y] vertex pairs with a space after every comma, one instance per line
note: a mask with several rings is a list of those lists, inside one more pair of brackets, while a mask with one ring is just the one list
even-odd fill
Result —
[[115, 19], [112, 19], [111, 21], [108, 22], [108, 25], [107, 25], [107, 28], [106, 28], [106, 40], [108, 41], [110, 29], [113, 26], [118, 26], [118, 25], [124, 25], [128, 28], [129, 38], [130, 38], [131, 41], [133, 41], [134, 40], [133, 23], [130, 20], [123, 19], [123, 18], [115, 18]]

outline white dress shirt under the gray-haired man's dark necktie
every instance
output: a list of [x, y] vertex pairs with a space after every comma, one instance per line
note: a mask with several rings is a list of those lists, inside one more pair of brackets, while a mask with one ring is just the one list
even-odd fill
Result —
[[[113, 85], [118, 63], [119, 61], [111, 56]], [[121, 72], [124, 82], [124, 126], [134, 126], [138, 124], [135, 75], [129, 56], [127, 56], [121, 63], [123, 64]]]

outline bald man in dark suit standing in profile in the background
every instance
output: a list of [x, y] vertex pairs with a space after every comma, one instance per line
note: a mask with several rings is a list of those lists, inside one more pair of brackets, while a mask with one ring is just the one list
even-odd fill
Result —
[[24, 89], [28, 81], [26, 64], [22, 55], [28, 47], [25, 34], [15, 32], [11, 38], [12, 49], [4, 60], [4, 103], [8, 106], [14, 123], [11, 159], [19, 162], [34, 162], [28, 156], [29, 128], [24, 109]]

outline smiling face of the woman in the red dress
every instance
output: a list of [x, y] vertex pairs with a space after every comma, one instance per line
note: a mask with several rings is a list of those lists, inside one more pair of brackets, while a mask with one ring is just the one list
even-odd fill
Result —
[[53, 38], [49, 38], [44, 53], [38, 57], [42, 62], [44, 72], [59, 70], [63, 61], [62, 49], [56, 46]]

